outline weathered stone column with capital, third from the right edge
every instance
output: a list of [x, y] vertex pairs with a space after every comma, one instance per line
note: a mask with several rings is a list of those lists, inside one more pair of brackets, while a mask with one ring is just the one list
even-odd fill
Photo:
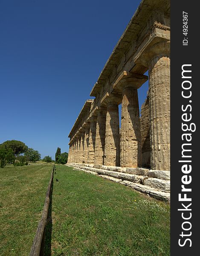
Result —
[[106, 93], [101, 106], [107, 107], [104, 165], [120, 166], [119, 108], [122, 97]]

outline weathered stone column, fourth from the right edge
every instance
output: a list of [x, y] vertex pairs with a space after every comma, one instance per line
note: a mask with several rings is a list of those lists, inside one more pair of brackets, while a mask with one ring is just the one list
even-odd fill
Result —
[[104, 165], [106, 108], [97, 110], [94, 165]]

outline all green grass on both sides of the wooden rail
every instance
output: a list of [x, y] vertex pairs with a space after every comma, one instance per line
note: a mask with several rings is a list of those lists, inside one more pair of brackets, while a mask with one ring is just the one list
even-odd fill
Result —
[[[51, 170], [0, 169], [0, 256], [29, 255]], [[50, 209], [46, 256], [170, 255], [170, 206], [121, 184], [56, 165]]]

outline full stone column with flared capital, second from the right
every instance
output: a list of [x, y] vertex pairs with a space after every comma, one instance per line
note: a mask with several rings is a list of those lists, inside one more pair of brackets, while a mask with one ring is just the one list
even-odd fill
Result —
[[137, 89], [148, 77], [123, 71], [113, 85], [122, 92], [121, 166], [141, 167], [142, 146]]

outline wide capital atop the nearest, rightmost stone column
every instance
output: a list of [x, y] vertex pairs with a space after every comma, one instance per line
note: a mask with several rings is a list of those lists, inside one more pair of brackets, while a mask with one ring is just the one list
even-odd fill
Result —
[[154, 38], [147, 45], [145, 45], [139, 53], [135, 56], [134, 62], [149, 67], [150, 61], [155, 57], [169, 57], [170, 56], [170, 41], [158, 41]]

